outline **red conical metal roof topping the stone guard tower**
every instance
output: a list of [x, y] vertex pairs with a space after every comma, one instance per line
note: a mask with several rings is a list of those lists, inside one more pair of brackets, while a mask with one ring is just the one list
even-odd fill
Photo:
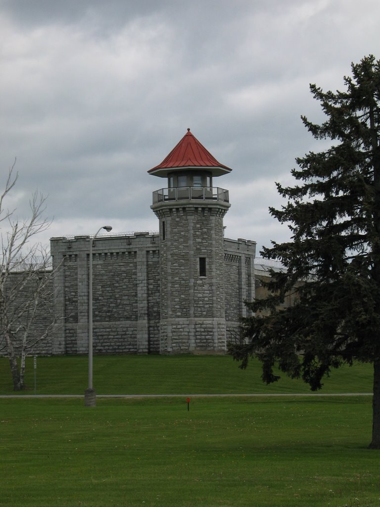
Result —
[[232, 171], [230, 167], [219, 164], [190, 132], [189, 128], [161, 164], [149, 169], [148, 173], [166, 177], [169, 172], [180, 169], [206, 169], [212, 172], [213, 176], [220, 176]]

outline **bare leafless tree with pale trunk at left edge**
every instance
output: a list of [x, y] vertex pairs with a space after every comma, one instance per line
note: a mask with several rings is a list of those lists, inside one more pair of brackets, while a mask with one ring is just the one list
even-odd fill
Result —
[[[15, 161], [16, 162], [16, 161]], [[29, 218], [19, 220], [6, 198], [16, 185], [15, 163], [0, 196], [0, 351], [9, 358], [13, 388], [25, 388], [25, 359], [53, 330], [53, 271], [50, 256], [35, 236], [49, 228], [46, 199], [29, 201]]]

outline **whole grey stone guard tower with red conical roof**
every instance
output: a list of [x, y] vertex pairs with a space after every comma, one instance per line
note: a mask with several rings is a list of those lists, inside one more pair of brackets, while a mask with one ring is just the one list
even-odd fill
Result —
[[223, 216], [229, 192], [220, 164], [187, 129], [149, 174], [167, 178], [150, 206], [160, 221], [160, 352], [225, 351]]

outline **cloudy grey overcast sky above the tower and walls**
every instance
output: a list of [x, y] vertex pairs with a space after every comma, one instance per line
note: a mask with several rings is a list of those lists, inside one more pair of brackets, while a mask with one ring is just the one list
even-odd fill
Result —
[[[0, 163], [10, 206], [48, 196], [50, 236], [157, 231], [147, 174], [187, 127], [233, 168], [226, 237], [284, 241], [275, 181], [324, 146], [309, 84], [380, 58], [378, 0], [0, 0]], [[4, 183], [2, 186], [4, 187]]]

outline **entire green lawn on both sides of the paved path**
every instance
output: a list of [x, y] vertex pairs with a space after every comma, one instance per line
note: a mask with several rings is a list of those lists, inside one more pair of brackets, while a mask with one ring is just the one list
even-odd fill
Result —
[[[87, 357], [37, 359], [37, 394], [83, 394]], [[0, 506], [235, 507], [380, 505], [380, 451], [370, 451], [371, 397], [294, 397], [230, 356], [95, 356], [98, 394], [160, 399], [0, 400]], [[371, 392], [371, 365], [333, 371], [322, 393]], [[0, 394], [12, 394], [0, 358]], [[287, 393], [288, 397], [192, 394]]]

